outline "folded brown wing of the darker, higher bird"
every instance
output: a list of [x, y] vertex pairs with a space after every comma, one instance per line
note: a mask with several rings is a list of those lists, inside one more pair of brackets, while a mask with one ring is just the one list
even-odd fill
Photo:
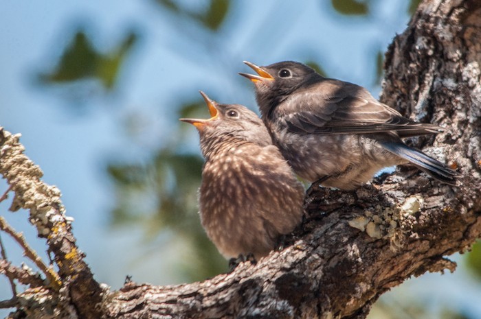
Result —
[[365, 88], [337, 80], [326, 80], [293, 93], [279, 108], [278, 114], [291, 132], [363, 134], [396, 131], [401, 137], [440, 132], [438, 126], [403, 117], [374, 99]]

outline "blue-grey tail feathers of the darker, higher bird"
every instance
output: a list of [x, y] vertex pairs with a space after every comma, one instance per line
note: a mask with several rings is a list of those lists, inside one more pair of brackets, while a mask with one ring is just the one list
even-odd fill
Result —
[[433, 178], [436, 178], [436, 180], [440, 180], [441, 182], [445, 182], [450, 185], [456, 185], [456, 177], [460, 175], [458, 172], [450, 169], [447, 167], [447, 165], [441, 163], [440, 161], [436, 161], [434, 158], [427, 156], [420, 150], [409, 147], [401, 141], [385, 141], [381, 142], [381, 145], [385, 148], [385, 150], [388, 150], [389, 152], [392, 152], [397, 156], [410, 161], [423, 172], [426, 172]]

